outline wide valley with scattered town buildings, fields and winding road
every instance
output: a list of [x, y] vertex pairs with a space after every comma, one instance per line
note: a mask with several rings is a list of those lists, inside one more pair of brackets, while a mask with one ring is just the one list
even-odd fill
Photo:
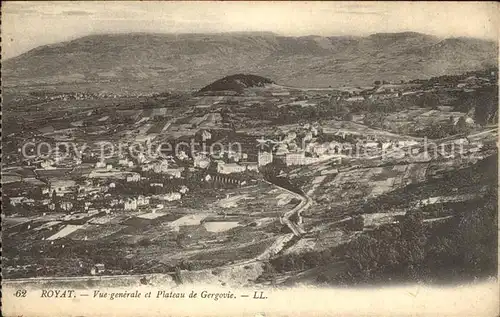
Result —
[[[18, 94], [4, 118], [4, 276], [181, 282], [229, 265], [244, 268], [245, 283], [285, 283], [320, 264], [295, 257], [334, 250], [325, 261], [345, 264], [343, 248], [407, 210], [490, 193], [457, 185], [396, 210], [376, 205], [496, 155], [497, 72], [370, 87], [262, 79], [241, 90]], [[262, 77], [233, 77], [249, 78]], [[453, 217], [426, 212], [423, 222]], [[331, 281], [324, 274], [315, 281]]]

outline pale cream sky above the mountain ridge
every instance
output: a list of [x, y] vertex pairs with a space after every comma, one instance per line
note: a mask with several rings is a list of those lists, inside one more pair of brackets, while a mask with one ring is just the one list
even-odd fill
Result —
[[495, 2], [4, 2], [2, 59], [89, 34], [270, 31], [368, 35], [414, 31], [498, 40]]

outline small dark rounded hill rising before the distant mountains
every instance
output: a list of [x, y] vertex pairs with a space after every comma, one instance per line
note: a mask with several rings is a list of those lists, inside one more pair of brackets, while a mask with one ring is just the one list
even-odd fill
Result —
[[266, 84], [274, 84], [274, 82], [268, 78], [264, 78], [261, 76], [236, 74], [216, 80], [210, 85], [207, 85], [202, 89], [200, 89], [200, 92], [211, 92], [211, 91], [242, 92], [245, 88], [264, 87]]

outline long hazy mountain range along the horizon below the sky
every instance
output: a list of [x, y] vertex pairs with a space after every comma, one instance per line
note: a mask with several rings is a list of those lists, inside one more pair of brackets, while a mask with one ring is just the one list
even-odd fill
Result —
[[[361, 86], [497, 65], [498, 43], [414, 32], [366, 37], [273, 33], [92, 35], [3, 63], [4, 85], [199, 89], [235, 73], [290, 86]], [[83, 85], [85, 83], [85, 85]]]

